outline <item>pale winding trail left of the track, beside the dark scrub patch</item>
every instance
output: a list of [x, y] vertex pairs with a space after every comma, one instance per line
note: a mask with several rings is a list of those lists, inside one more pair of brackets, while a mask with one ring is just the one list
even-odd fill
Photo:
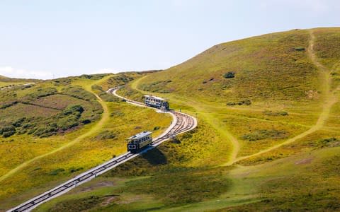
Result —
[[[96, 81], [95, 83], [99, 83], [101, 81], [104, 81], [108, 77], [109, 76], [106, 76], [105, 78], [102, 78], [101, 80]], [[97, 124], [94, 127], [92, 127], [89, 131], [87, 131], [85, 134], [82, 134], [81, 136], [78, 136], [76, 139], [66, 143], [65, 145], [60, 146], [59, 148], [56, 148], [53, 151], [50, 151], [48, 153], [45, 153], [45, 154], [42, 154], [42, 155], [38, 155], [37, 157], [32, 158], [30, 160], [27, 160], [24, 163], [21, 163], [21, 165], [18, 165], [17, 167], [15, 167], [12, 170], [8, 171], [5, 175], [2, 175], [0, 177], [0, 182], [2, 182], [4, 179], [7, 179], [8, 177], [11, 177], [12, 175], [16, 174], [16, 172], [23, 170], [23, 168], [27, 167], [28, 165], [30, 165], [31, 163], [35, 162], [36, 160], [39, 160], [41, 158], [45, 158], [48, 155], [52, 155], [54, 153], [62, 151], [65, 148], [73, 146], [75, 143], [78, 143], [82, 139], [85, 139], [86, 137], [91, 136], [92, 134], [96, 133], [98, 130], [100, 130], [103, 127], [103, 124], [105, 124], [106, 121], [109, 119], [110, 114], [108, 112], [108, 106], [106, 105], [106, 103], [103, 102], [103, 100], [96, 93], [94, 93], [94, 91], [91, 89], [91, 86], [93, 86], [95, 83], [89, 84], [89, 86], [85, 86], [84, 88], [85, 88], [85, 90], [87, 90], [90, 93], [94, 94], [96, 96], [96, 98], [98, 99], [98, 102], [103, 107], [103, 114], [102, 114], [101, 119], [99, 120], [99, 122], [97, 122]]]

